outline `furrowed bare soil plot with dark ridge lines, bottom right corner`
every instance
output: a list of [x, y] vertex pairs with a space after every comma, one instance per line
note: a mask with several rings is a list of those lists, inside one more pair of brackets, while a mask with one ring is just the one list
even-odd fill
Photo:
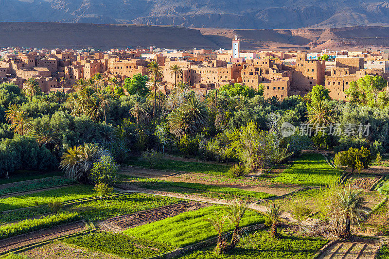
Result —
[[367, 239], [334, 242], [319, 255], [318, 259], [373, 259], [379, 248], [379, 242]]

